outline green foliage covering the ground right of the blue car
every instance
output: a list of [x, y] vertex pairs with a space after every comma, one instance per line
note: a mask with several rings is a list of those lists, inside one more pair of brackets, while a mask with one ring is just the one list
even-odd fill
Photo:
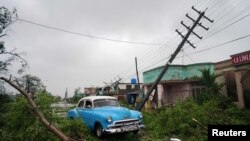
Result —
[[202, 104], [193, 99], [179, 101], [175, 107], [144, 112], [145, 137], [141, 140], [206, 141], [209, 124], [250, 124], [250, 112], [239, 109], [223, 96], [209, 97]]

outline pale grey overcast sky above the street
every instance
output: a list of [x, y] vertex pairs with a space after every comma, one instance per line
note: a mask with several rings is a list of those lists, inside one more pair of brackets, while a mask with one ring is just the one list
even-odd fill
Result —
[[201, 20], [210, 29], [195, 28], [204, 38], [190, 36], [197, 48], [186, 44], [174, 64], [218, 62], [250, 50], [249, 0], [0, 0], [25, 20], [1, 39], [8, 49], [26, 52], [27, 73], [40, 77], [48, 91], [64, 96], [67, 88], [72, 96], [77, 87], [103, 86], [118, 76], [130, 82], [135, 57], [141, 80], [143, 71], [166, 63], [181, 41], [175, 30], [187, 32], [180, 22], [192, 25], [186, 13], [198, 17], [193, 5], [208, 8], [205, 15], [214, 22]]

